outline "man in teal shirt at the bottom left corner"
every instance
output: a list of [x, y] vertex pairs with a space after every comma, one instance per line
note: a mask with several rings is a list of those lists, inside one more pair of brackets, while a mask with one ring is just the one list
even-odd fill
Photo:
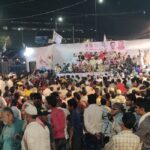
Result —
[[2, 113], [4, 127], [0, 135], [0, 149], [21, 150], [24, 122], [15, 119], [13, 111], [9, 107], [3, 108]]

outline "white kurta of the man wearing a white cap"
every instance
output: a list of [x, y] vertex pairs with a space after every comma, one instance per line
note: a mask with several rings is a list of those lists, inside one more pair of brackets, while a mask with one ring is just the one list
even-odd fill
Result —
[[21, 144], [22, 150], [51, 150], [48, 127], [31, 122], [26, 127]]

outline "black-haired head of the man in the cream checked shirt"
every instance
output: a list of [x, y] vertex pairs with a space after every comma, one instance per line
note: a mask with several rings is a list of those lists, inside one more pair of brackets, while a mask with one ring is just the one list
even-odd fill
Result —
[[136, 122], [135, 115], [129, 112], [124, 113], [122, 117], [122, 122], [127, 129], [133, 129]]

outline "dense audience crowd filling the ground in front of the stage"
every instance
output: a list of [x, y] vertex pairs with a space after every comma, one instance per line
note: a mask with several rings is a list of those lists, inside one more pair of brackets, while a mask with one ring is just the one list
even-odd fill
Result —
[[0, 78], [0, 150], [149, 150], [149, 125], [142, 70]]

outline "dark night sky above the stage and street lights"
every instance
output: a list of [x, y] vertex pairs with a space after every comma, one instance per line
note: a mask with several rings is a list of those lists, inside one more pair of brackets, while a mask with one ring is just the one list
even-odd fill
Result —
[[[59, 10], [78, 2], [81, 4]], [[49, 13], [53, 10], [58, 11]], [[30, 17], [45, 12], [45, 15]], [[76, 37], [102, 40], [106, 34], [110, 39], [150, 38], [150, 0], [104, 0], [103, 4], [97, 0], [96, 5], [94, 0], [0, 0], [1, 28], [53, 29], [59, 16], [64, 18], [59, 32], [66, 37], [70, 36], [68, 30], [75, 26]], [[78, 30], [82, 30], [81, 33]]]

